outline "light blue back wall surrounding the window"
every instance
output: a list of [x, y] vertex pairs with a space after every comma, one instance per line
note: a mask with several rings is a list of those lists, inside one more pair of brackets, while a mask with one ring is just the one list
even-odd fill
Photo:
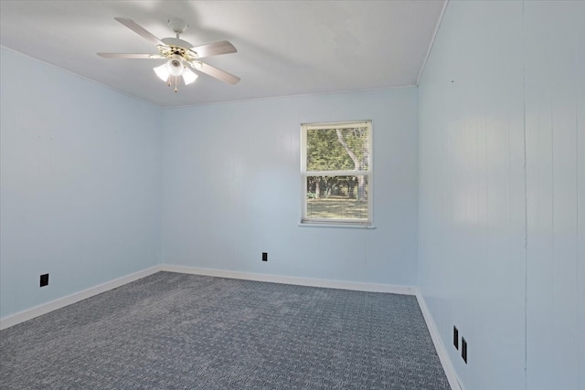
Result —
[[[163, 115], [165, 263], [416, 282], [416, 89], [216, 104]], [[377, 228], [299, 227], [301, 123], [368, 119]], [[268, 252], [268, 262], [261, 262], [261, 252]]]

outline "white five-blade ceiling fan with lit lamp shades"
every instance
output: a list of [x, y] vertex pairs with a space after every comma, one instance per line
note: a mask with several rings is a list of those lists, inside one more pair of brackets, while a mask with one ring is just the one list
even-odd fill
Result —
[[229, 84], [237, 84], [239, 82], [239, 77], [225, 70], [212, 67], [200, 59], [218, 56], [220, 54], [236, 53], [238, 50], [229, 41], [222, 40], [206, 45], [193, 46], [189, 42], [179, 38], [179, 35], [186, 31], [187, 24], [184, 20], [176, 17], [168, 20], [168, 26], [176, 33], [176, 37], [162, 39], [154, 37], [153, 34], [144, 29], [143, 26], [136, 24], [132, 19], [123, 17], [114, 17], [114, 19], [153, 43], [158, 48], [158, 54], [98, 53], [98, 56], [103, 58], [166, 59], [165, 64], [154, 68], [154, 72], [169, 87], [175, 84], [175, 92], [178, 90], [179, 78], [182, 77], [185, 85], [189, 85], [197, 79], [196, 72], [205, 73]]

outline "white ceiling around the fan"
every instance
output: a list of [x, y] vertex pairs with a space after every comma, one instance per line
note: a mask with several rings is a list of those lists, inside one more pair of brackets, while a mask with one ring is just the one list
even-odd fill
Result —
[[[444, 0], [430, 1], [0, 1], [0, 44], [161, 107], [416, 85]], [[241, 78], [202, 74], [178, 93], [157, 79], [161, 59], [108, 59], [96, 52], [157, 53], [113, 19], [133, 19], [193, 45], [229, 40], [238, 53], [207, 59]], [[25, 75], [23, 75], [25, 77]]]

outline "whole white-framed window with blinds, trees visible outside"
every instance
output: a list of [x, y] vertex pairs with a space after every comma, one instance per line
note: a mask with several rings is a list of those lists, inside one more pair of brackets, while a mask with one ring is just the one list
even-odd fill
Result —
[[303, 124], [302, 224], [372, 225], [372, 122]]

